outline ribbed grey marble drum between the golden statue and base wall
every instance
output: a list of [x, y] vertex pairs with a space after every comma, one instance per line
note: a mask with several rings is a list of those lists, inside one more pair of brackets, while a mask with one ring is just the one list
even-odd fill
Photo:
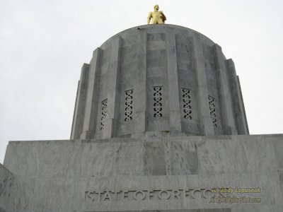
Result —
[[[79, 82], [71, 139], [134, 138], [147, 131], [248, 134], [235, 67], [219, 45], [194, 30], [178, 25], [130, 28], [103, 43], [84, 66], [89, 71], [82, 72]], [[154, 86], [162, 87], [158, 109]], [[183, 88], [190, 90], [190, 106], [184, 103]], [[132, 117], [125, 120], [127, 90], [133, 90]], [[102, 129], [103, 100], [108, 105]], [[189, 118], [185, 107], [190, 107]], [[212, 113], [217, 124], [212, 124]]]

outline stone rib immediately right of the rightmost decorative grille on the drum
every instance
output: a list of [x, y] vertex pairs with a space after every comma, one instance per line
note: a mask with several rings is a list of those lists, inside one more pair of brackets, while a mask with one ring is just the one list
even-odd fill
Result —
[[229, 90], [229, 81], [226, 75], [226, 64], [219, 45], [214, 45], [214, 55], [223, 129], [225, 134], [238, 134], [233, 117], [231, 93]]

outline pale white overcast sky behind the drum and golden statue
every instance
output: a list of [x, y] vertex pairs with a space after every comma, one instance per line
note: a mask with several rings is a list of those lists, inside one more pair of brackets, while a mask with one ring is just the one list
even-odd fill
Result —
[[250, 134], [283, 133], [282, 0], [0, 0], [0, 163], [8, 141], [69, 139], [81, 66], [155, 4], [233, 59]]

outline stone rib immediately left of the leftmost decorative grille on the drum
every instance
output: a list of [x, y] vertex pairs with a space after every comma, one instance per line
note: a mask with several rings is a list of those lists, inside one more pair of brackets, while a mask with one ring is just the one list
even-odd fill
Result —
[[98, 80], [100, 72], [100, 57], [102, 49], [93, 52], [91, 67], [88, 73], [88, 90], [86, 96], [86, 111], [84, 112], [83, 133], [81, 139], [92, 139], [96, 132], [96, 119], [98, 110]]

